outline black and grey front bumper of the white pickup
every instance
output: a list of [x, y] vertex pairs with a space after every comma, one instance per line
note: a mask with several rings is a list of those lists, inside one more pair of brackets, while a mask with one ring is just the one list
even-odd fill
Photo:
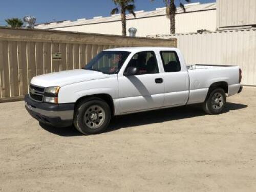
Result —
[[29, 95], [26, 95], [25, 108], [32, 117], [46, 124], [53, 126], [70, 126], [73, 123], [74, 103], [40, 103], [32, 100]]

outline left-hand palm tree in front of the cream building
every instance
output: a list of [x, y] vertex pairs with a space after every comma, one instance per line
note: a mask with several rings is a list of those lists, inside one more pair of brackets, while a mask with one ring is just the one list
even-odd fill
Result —
[[122, 35], [126, 36], [126, 11], [133, 14], [134, 17], [136, 17], [136, 14], [134, 12], [135, 5], [134, 0], [112, 0], [114, 4], [116, 5], [116, 8], [114, 8], [111, 11], [111, 14], [115, 14], [119, 12], [119, 9], [121, 10], [121, 22], [122, 22]]

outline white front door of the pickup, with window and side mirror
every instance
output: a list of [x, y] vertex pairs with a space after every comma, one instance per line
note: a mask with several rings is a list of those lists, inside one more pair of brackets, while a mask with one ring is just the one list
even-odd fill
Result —
[[124, 74], [128, 67], [136, 67], [137, 74], [118, 75], [120, 112], [129, 113], [163, 106], [163, 75], [159, 73], [155, 52], [136, 53], [126, 66]]

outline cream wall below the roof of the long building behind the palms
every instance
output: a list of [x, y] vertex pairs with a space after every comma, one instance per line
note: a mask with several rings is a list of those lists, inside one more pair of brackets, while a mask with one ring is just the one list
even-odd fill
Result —
[[[118, 21], [55, 28], [53, 30], [120, 35], [122, 33], [121, 27], [121, 22]], [[170, 22], [166, 16], [137, 18], [127, 20], [127, 30], [130, 27], [137, 28], [137, 36], [145, 37], [147, 35], [169, 33]], [[176, 15], [177, 33], [196, 32], [200, 29], [216, 30], [216, 10], [189, 12]], [[127, 34], [129, 34], [128, 31]]]

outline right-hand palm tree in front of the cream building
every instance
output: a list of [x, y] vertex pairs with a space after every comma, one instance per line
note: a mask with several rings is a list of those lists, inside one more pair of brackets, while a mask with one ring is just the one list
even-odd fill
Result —
[[[154, 0], [151, 0], [154, 1]], [[174, 34], [175, 33], [175, 13], [177, 11], [176, 5], [175, 5], [175, 0], [163, 0], [165, 5], [166, 5], [166, 15], [170, 19], [170, 33]], [[185, 6], [183, 3], [180, 1], [180, 7], [183, 9], [184, 12], [186, 12]], [[190, 3], [190, 0], [184, 0], [187, 3]]]

